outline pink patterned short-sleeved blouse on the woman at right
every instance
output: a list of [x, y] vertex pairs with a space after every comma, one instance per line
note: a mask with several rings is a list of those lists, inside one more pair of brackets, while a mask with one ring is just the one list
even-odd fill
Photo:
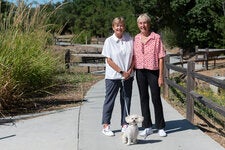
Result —
[[152, 32], [145, 44], [141, 37], [139, 33], [134, 38], [135, 69], [159, 70], [159, 58], [166, 55], [160, 35]]

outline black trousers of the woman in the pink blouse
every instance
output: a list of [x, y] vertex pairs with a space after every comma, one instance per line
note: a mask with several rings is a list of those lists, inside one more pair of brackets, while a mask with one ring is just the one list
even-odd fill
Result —
[[163, 129], [165, 120], [163, 115], [162, 101], [160, 97], [160, 87], [158, 85], [159, 70], [137, 69], [136, 78], [140, 95], [141, 112], [144, 117], [142, 127], [152, 127], [149, 103], [149, 86], [155, 114], [155, 127]]

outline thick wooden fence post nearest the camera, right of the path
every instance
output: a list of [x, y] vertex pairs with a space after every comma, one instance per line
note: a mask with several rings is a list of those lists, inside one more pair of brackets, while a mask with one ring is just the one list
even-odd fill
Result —
[[194, 123], [194, 99], [192, 98], [190, 92], [194, 90], [195, 79], [192, 72], [195, 71], [195, 65], [193, 61], [187, 64], [187, 95], [186, 95], [186, 118], [191, 123]]

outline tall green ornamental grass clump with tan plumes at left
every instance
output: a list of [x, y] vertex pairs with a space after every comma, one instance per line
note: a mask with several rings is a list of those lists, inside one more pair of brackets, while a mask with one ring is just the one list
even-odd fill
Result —
[[[1, 6], [0, 6], [1, 8]], [[57, 58], [49, 47], [51, 34], [46, 7], [11, 5], [0, 14], [0, 106], [13, 103], [51, 86]]]

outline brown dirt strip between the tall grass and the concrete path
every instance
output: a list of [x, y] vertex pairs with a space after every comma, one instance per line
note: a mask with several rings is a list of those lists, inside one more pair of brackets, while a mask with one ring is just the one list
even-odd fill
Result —
[[87, 91], [103, 78], [103, 76], [93, 75], [91, 81], [82, 82], [78, 85], [57, 85], [51, 90], [51, 94], [48, 94], [48, 96], [34, 97], [12, 103], [10, 109], [1, 111], [1, 117], [13, 117], [16, 115], [40, 113], [79, 106], [82, 104]]

